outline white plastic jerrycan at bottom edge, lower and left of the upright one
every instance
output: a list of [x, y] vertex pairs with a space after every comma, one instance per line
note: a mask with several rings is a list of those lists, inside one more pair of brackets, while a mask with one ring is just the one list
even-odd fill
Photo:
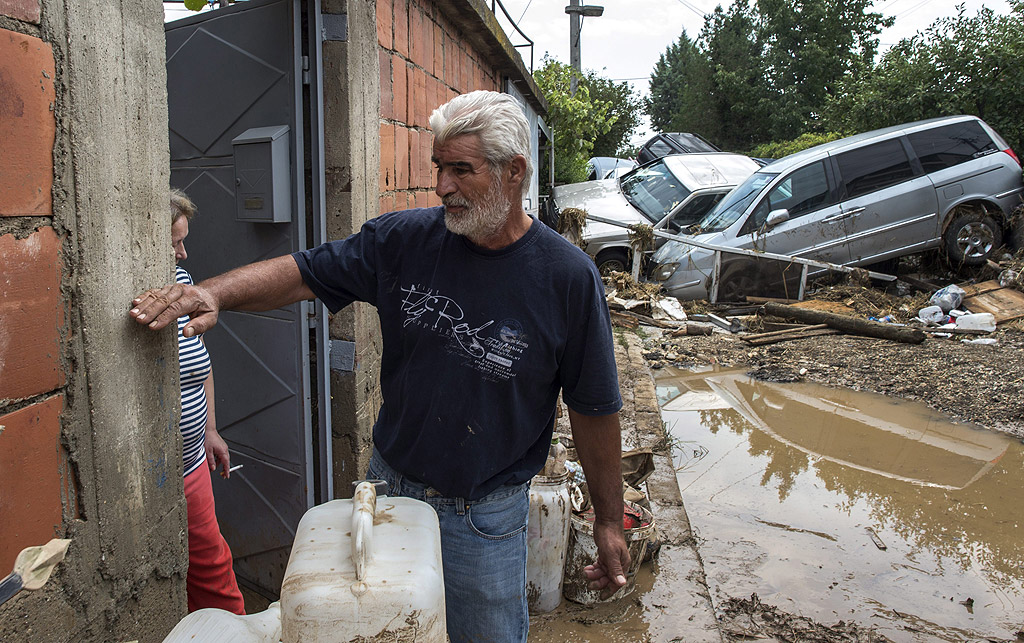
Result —
[[278, 643], [281, 641], [281, 604], [239, 616], [223, 609], [198, 609], [174, 626], [164, 643]]

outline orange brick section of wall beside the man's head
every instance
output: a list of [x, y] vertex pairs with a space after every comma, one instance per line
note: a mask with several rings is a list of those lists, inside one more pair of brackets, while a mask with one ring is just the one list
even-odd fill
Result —
[[500, 89], [500, 74], [430, 0], [377, 0], [380, 211], [440, 205], [427, 120], [456, 94]]

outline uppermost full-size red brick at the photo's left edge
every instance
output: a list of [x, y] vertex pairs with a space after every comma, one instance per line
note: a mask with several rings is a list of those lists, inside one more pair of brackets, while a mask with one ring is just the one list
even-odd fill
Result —
[[54, 76], [49, 44], [0, 29], [0, 216], [52, 213]]

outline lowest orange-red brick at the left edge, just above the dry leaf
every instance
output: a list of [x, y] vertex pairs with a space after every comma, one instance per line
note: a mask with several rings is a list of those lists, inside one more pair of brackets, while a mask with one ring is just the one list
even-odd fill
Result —
[[[0, 416], [0, 568], [26, 547], [60, 532], [60, 412], [57, 395]], [[5, 572], [6, 573], [6, 572]]]

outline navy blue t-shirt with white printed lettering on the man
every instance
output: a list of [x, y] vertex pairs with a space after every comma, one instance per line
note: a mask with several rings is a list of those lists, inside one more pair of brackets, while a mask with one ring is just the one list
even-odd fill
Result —
[[443, 208], [392, 212], [293, 257], [332, 312], [377, 307], [374, 443], [444, 496], [478, 499], [540, 471], [559, 390], [580, 414], [622, 406], [597, 268], [540, 221], [490, 251], [450, 232]]

